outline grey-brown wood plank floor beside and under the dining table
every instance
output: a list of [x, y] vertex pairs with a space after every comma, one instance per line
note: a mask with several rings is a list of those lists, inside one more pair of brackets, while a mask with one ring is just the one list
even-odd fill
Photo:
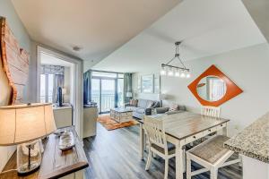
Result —
[[[149, 171], [145, 161], [139, 158], [139, 125], [107, 131], [97, 124], [97, 136], [83, 140], [84, 150], [90, 166], [86, 178], [98, 179], [161, 179], [164, 160], [152, 159]], [[145, 160], [145, 159], [144, 159]], [[194, 168], [199, 168], [193, 164]], [[175, 178], [175, 159], [169, 160], [169, 178]], [[209, 178], [209, 173], [196, 175], [193, 179]], [[237, 164], [219, 170], [219, 179], [241, 179], [241, 167]]]

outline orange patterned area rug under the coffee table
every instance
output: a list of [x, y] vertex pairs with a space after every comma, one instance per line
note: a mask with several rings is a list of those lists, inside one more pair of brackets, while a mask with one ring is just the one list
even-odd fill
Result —
[[111, 119], [111, 117], [109, 115], [100, 115], [97, 118], [97, 121], [100, 124], [102, 124], [108, 131], [123, 128], [123, 127], [129, 127], [129, 126], [138, 124], [138, 122], [135, 120], [119, 124], [116, 121], [114, 121], [113, 119]]

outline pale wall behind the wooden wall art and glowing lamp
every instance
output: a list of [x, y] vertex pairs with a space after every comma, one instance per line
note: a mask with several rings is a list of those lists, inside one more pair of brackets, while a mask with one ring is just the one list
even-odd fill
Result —
[[[24, 26], [22, 25], [22, 21], [19, 19], [17, 13], [15, 13], [13, 4], [11, 3], [10, 0], [0, 1], [0, 16], [3, 16], [6, 18], [6, 21], [9, 27], [11, 28], [11, 30], [13, 31], [14, 36], [19, 41], [20, 46], [30, 53], [30, 37], [27, 31], [25, 30]], [[31, 66], [32, 66], [32, 60], [30, 58], [30, 69], [31, 69]], [[0, 96], [7, 95], [3, 91], [4, 86], [2, 86], [4, 85], [4, 79], [0, 78], [0, 80], [1, 80]], [[29, 97], [30, 97], [29, 94], [32, 91], [30, 83], [31, 81], [28, 81], [27, 87], [24, 89], [23, 101], [29, 101]], [[0, 100], [2, 99], [0, 98]], [[5, 102], [0, 101], [0, 104], [2, 106], [7, 105], [6, 101]], [[12, 156], [14, 149], [15, 149], [14, 147], [0, 147], [0, 172], [3, 170], [3, 167], [5, 163], [7, 162], [7, 160]]]

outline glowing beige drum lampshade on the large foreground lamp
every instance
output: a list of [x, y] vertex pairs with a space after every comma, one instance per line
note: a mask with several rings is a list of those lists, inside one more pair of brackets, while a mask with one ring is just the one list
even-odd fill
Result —
[[51, 104], [0, 107], [0, 146], [37, 140], [54, 131]]

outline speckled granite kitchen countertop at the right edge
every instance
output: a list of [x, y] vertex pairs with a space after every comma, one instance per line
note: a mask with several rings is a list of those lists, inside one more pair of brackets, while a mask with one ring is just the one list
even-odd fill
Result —
[[269, 113], [226, 141], [224, 147], [269, 164]]

